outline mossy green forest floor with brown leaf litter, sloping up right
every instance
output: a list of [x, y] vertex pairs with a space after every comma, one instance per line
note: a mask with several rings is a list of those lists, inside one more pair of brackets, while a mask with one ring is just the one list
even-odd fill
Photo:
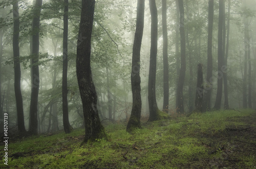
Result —
[[0, 168], [256, 168], [255, 110], [221, 110], [146, 122], [130, 134], [105, 126], [110, 140], [80, 146], [84, 130], [1, 142]]

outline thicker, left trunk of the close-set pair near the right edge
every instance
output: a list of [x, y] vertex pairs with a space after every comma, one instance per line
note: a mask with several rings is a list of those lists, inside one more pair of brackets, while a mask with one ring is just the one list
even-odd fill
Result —
[[222, 81], [223, 81], [223, 7], [224, 0], [219, 0], [219, 25], [218, 25], [218, 86], [217, 95], [214, 105], [214, 109], [219, 110], [221, 108], [221, 98], [222, 98]]

